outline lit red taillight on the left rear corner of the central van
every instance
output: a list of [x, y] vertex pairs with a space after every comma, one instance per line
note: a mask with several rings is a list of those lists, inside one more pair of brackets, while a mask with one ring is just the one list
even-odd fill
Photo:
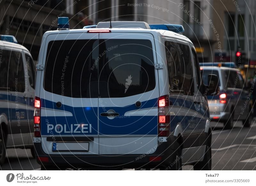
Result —
[[34, 111], [34, 135], [41, 137], [41, 99], [35, 97], [35, 111]]

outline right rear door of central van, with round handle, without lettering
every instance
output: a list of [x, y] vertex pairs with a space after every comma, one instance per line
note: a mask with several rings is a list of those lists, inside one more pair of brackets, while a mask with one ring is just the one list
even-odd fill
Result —
[[153, 153], [159, 97], [154, 37], [111, 32], [99, 38], [99, 153]]

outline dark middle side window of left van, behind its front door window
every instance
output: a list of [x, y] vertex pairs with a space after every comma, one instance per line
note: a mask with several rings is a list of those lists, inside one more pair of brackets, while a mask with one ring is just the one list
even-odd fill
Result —
[[25, 77], [21, 52], [7, 50], [7, 58], [9, 60], [10, 90], [24, 92]]

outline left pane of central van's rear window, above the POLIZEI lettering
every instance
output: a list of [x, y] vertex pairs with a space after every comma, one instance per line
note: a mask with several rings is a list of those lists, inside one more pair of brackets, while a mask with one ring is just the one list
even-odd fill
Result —
[[48, 44], [44, 89], [67, 97], [90, 95], [90, 81], [98, 81], [98, 40], [51, 41]]

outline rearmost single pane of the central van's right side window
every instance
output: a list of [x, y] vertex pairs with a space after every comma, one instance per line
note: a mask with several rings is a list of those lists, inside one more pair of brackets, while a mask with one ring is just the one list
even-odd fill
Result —
[[167, 59], [167, 69], [169, 77], [169, 93], [184, 93], [182, 87], [182, 72], [180, 66], [180, 55], [176, 49], [175, 43], [165, 42], [165, 53]]

